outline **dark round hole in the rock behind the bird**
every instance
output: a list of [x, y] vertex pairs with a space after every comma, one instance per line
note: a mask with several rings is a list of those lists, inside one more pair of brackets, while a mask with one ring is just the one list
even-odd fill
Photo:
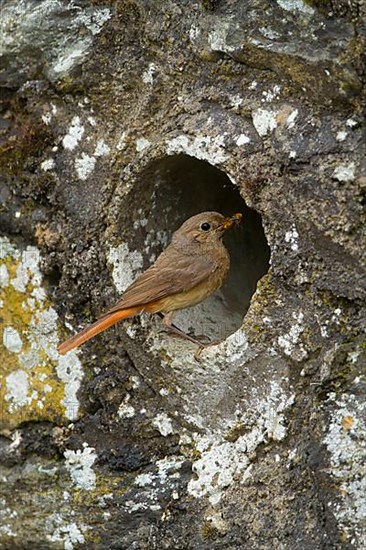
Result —
[[[268, 271], [269, 247], [260, 215], [246, 205], [228, 176], [188, 155], [165, 157], [139, 175], [121, 210], [121, 230], [131, 249], [144, 251], [144, 268], [153, 263], [172, 233], [190, 216], [210, 210], [243, 214], [240, 226], [224, 236], [231, 267], [222, 288], [174, 316], [179, 328], [212, 340], [223, 340], [237, 330], [258, 280]], [[134, 229], [126, 235], [128, 227]]]

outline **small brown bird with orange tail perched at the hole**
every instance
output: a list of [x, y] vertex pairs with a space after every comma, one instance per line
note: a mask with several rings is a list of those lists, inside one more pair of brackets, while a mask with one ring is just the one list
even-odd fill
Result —
[[176, 327], [173, 316], [221, 287], [230, 268], [222, 237], [241, 219], [241, 213], [225, 217], [219, 212], [201, 212], [187, 219], [155, 263], [135, 279], [120, 300], [93, 324], [60, 344], [58, 352], [64, 355], [118, 321], [143, 312], [163, 314], [167, 332], [201, 344]]

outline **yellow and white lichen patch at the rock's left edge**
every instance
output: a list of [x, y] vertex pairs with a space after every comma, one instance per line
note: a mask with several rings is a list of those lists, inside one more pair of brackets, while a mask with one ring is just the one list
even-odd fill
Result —
[[[24, 252], [22, 255], [7, 241], [2, 242], [1, 429], [12, 429], [30, 420], [62, 422], [71, 417], [65, 403], [66, 382], [58, 372], [56, 313], [40, 286], [38, 251], [28, 247], [27, 253], [28, 261]], [[47, 319], [51, 319], [50, 325]], [[9, 334], [15, 335], [15, 345]]]

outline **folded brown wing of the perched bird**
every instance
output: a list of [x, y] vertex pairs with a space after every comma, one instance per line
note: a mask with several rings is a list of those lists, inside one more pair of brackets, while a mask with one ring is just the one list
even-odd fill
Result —
[[148, 304], [194, 288], [218, 268], [217, 262], [207, 256], [176, 253], [168, 247], [155, 264], [144, 271], [127, 288], [107, 315], [121, 309]]

